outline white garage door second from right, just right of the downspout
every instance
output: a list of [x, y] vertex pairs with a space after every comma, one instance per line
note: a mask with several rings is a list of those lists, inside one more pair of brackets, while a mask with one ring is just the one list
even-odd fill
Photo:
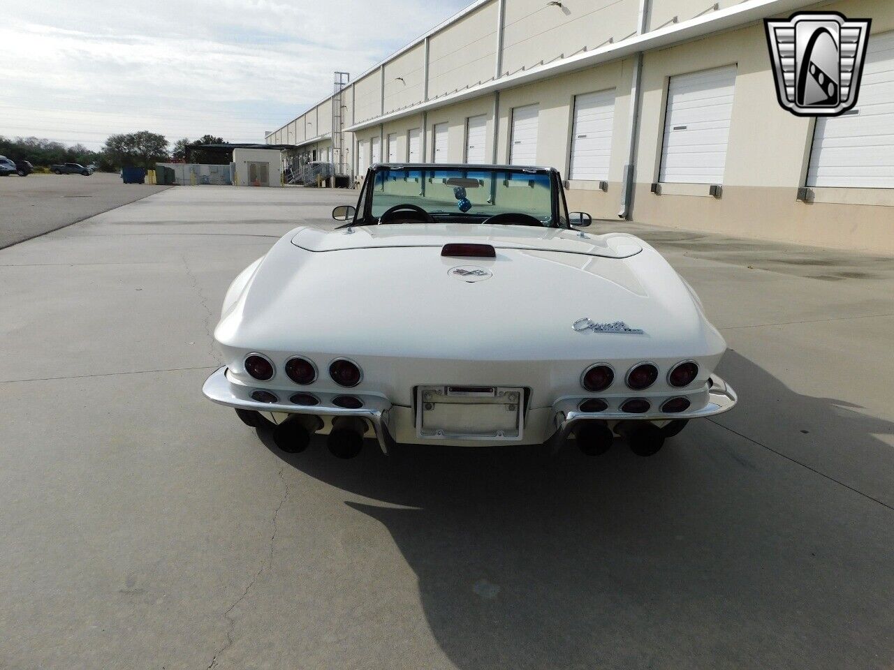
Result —
[[671, 77], [659, 181], [722, 184], [736, 66]]

